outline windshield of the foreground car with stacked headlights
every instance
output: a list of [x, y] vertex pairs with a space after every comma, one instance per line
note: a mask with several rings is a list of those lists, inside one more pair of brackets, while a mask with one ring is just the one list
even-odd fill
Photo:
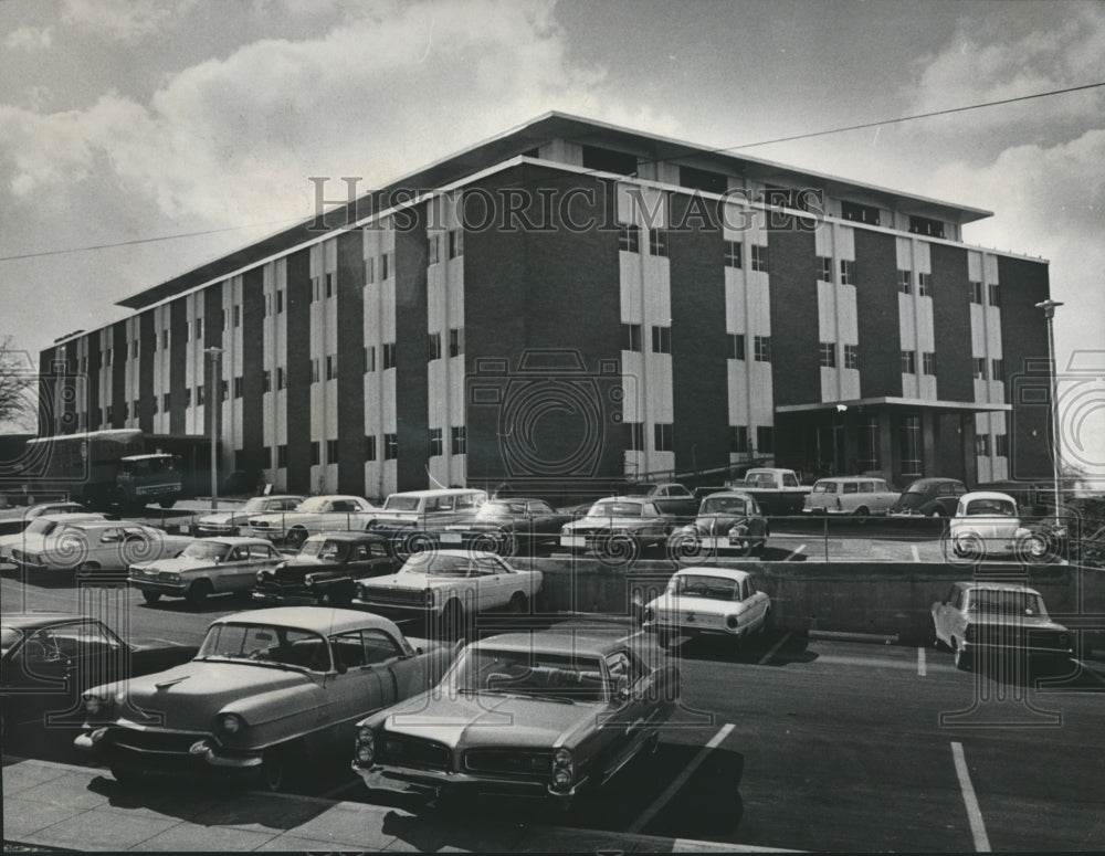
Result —
[[607, 701], [609, 680], [597, 657], [537, 649], [464, 649], [444, 679], [454, 693], [538, 696], [558, 701]]

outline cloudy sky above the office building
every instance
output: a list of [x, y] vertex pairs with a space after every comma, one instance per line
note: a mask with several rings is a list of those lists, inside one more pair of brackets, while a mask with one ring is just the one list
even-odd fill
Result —
[[1103, 82], [1099, 0], [6, 0], [0, 337], [36, 360], [309, 216], [308, 177], [558, 109], [993, 211], [965, 240], [1050, 260], [1067, 455], [1105, 477], [1105, 86], [756, 145]]

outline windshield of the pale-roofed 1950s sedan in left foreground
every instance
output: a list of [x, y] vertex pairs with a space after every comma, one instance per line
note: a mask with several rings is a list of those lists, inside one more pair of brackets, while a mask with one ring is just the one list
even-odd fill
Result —
[[196, 658], [244, 661], [311, 672], [330, 668], [330, 649], [320, 634], [272, 624], [215, 624], [208, 631]]

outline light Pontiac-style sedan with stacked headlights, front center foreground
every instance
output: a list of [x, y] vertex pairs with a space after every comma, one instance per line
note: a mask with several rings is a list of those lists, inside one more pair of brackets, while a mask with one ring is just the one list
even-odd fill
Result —
[[352, 769], [370, 789], [567, 806], [654, 750], [678, 696], [678, 667], [652, 669], [622, 640], [493, 636], [434, 690], [359, 722]]

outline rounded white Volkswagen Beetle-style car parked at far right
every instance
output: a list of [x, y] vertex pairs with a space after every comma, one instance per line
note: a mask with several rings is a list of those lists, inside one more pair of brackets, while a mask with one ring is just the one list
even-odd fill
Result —
[[1048, 541], [1021, 526], [1017, 503], [1008, 494], [976, 490], [959, 497], [948, 521], [946, 541], [959, 559], [981, 561], [998, 553], [1017, 553], [1039, 561], [1048, 556]]

